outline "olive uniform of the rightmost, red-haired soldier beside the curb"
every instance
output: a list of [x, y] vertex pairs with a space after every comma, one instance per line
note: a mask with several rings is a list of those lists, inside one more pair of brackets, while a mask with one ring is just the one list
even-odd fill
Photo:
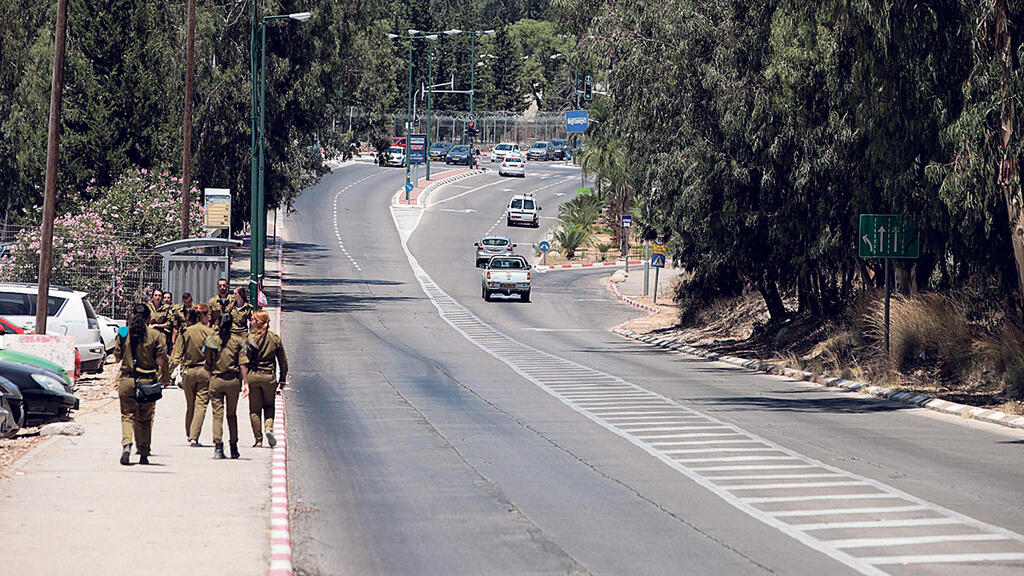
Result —
[[[273, 431], [273, 400], [278, 382], [288, 377], [288, 357], [285, 356], [281, 336], [270, 331], [258, 339], [250, 334], [246, 338], [245, 354], [249, 359], [249, 420], [256, 442], [263, 442], [260, 412], [263, 415], [262, 429]], [[281, 370], [280, 377], [274, 377], [274, 364]]]

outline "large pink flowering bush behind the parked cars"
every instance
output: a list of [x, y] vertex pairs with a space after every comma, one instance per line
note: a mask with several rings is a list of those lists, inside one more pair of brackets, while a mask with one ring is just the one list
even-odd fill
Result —
[[[126, 173], [106, 189], [89, 189], [82, 202], [53, 223], [51, 284], [88, 292], [96, 312], [124, 317], [134, 301], [161, 283], [154, 247], [177, 240], [181, 228], [181, 179], [146, 170]], [[188, 217], [193, 236], [203, 234], [202, 196], [191, 191]], [[36, 282], [37, 228], [23, 230], [0, 280]]]

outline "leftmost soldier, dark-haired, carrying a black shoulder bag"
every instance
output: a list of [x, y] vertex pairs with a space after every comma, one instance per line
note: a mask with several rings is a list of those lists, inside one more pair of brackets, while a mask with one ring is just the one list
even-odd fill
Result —
[[[128, 465], [132, 441], [140, 464], [150, 463], [153, 440], [153, 416], [156, 402], [138, 402], [135, 380], [156, 380], [166, 374], [167, 341], [164, 335], [146, 326], [151, 306], [138, 303], [132, 310], [131, 324], [119, 331], [114, 357], [121, 361], [118, 375], [118, 399], [121, 402], [121, 463]], [[165, 385], [167, 380], [161, 380]]]

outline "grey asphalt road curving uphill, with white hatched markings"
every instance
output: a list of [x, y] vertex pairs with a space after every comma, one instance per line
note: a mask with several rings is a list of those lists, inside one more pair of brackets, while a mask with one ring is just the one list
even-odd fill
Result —
[[[285, 222], [298, 573], [1024, 571], [1024, 434], [624, 340], [606, 271], [485, 303], [473, 242], [532, 258], [579, 172], [393, 216], [403, 176], [343, 166]], [[505, 227], [521, 191], [540, 230]]]

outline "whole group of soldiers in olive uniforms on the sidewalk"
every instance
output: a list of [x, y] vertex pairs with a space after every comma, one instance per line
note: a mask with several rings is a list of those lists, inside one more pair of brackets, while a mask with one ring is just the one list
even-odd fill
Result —
[[245, 287], [233, 290], [217, 282], [209, 302], [196, 304], [191, 294], [175, 304], [170, 292], [155, 289], [147, 302], [134, 305], [127, 329], [119, 334], [115, 356], [121, 361], [121, 463], [130, 463], [134, 442], [139, 463], [150, 462], [156, 402], [140, 401], [139, 384], [159, 381], [164, 388], [178, 372], [185, 396], [187, 442], [199, 442], [207, 406], [213, 412], [214, 458], [223, 459], [223, 420], [227, 419], [230, 457], [238, 458], [238, 403], [249, 398], [254, 447], [270, 447], [274, 398], [288, 376], [288, 359], [281, 337], [269, 331], [269, 315], [255, 310]]

